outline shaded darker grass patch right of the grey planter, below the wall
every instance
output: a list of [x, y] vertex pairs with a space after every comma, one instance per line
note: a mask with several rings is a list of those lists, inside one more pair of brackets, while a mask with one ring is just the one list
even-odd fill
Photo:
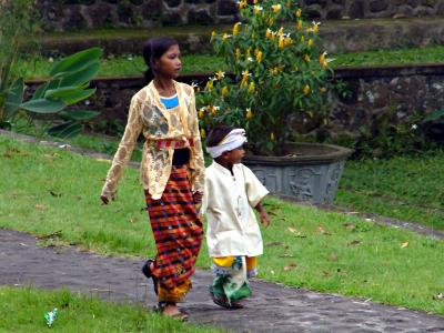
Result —
[[444, 230], [444, 151], [350, 161], [335, 204]]

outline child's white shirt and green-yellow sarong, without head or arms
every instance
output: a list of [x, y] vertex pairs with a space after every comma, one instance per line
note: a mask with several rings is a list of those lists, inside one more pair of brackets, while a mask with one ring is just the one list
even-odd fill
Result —
[[269, 191], [243, 164], [233, 174], [218, 162], [206, 168], [202, 212], [206, 213], [206, 243], [213, 259], [213, 297], [229, 304], [251, 295], [249, 278], [256, 274], [256, 256], [263, 243], [253, 208]]

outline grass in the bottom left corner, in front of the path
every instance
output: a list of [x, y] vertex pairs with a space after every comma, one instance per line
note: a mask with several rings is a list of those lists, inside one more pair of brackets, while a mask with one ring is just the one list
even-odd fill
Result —
[[141, 305], [102, 302], [67, 290], [0, 287], [0, 332], [49, 332], [44, 313], [58, 307], [57, 332], [222, 332], [183, 324]]

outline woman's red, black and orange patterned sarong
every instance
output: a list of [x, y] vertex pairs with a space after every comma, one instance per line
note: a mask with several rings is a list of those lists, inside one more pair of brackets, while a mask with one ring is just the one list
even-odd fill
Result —
[[152, 274], [158, 281], [159, 302], [181, 302], [191, 289], [190, 276], [202, 243], [202, 221], [198, 214], [188, 176], [188, 167], [173, 167], [159, 200], [145, 192], [158, 253]]

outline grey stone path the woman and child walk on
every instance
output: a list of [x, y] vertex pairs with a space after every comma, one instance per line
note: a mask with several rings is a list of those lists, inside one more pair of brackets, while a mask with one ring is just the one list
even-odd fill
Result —
[[[103, 258], [77, 248], [39, 248], [36, 238], [0, 230], [0, 284], [54, 289], [67, 286], [104, 300], [129, 300], [151, 306], [152, 284], [140, 269], [143, 260]], [[209, 272], [198, 270], [183, 305], [190, 321], [234, 332], [444, 332], [444, 317], [253, 281], [254, 297], [245, 309], [214, 305]]]

